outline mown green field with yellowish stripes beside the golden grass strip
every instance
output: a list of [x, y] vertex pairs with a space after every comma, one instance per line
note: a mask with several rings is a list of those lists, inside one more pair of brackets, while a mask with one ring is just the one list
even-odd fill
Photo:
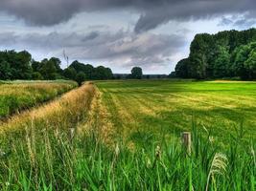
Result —
[[103, 102], [123, 138], [191, 130], [192, 123], [227, 138], [244, 126], [256, 138], [256, 83], [226, 81], [97, 82]]

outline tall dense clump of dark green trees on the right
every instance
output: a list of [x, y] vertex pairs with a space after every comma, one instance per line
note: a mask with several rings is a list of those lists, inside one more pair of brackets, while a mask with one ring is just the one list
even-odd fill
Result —
[[171, 76], [256, 79], [256, 29], [197, 34]]

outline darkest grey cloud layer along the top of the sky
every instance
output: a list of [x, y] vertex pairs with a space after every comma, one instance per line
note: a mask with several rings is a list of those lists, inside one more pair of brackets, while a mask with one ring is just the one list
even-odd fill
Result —
[[255, 0], [1, 0], [7, 11], [35, 25], [54, 25], [81, 11], [134, 10], [141, 14], [135, 32], [156, 28], [172, 19], [198, 19], [225, 13], [248, 12]]

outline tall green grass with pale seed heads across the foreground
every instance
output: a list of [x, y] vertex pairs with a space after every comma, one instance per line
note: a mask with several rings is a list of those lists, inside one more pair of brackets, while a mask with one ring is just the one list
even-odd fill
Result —
[[122, 142], [107, 147], [95, 135], [71, 139], [68, 131], [45, 129], [40, 135], [29, 130], [26, 141], [12, 143], [12, 153], [1, 159], [1, 189], [255, 189], [255, 157], [249, 152], [255, 145], [238, 151], [241, 145], [230, 140], [225, 150], [205, 139], [194, 140], [198, 152], [188, 157], [175, 142], [130, 151]]

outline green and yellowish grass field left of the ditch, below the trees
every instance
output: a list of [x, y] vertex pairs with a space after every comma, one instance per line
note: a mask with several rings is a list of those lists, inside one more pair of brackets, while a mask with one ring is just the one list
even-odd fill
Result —
[[0, 118], [71, 90], [72, 81], [2, 81], [0, 82]]

